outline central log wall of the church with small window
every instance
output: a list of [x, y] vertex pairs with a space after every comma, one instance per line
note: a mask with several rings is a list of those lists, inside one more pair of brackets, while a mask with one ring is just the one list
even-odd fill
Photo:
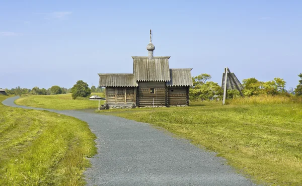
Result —
[[[154, 93], [150, 92], [154, 88]], [[166, 82], [148, 81], [138, 82], [137, 106], [166, 106]]]

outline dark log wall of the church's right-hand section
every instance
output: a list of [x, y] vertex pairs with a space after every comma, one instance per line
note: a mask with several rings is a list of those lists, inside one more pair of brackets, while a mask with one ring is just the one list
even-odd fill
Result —
[[169, 106], [189, 105], [189, 87], [170, 86], [168, 87], [167, 97]]

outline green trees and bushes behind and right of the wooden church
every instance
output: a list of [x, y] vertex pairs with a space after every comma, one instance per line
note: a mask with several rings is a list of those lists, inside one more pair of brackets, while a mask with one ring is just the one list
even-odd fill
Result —
[[[280, 77], [275, 77], [274, 80], [259, 81], [255, 77], [242, 80], [244, 90], [242, 90], [244, 96], [258, 96], [258, 95], [280, 95], [280, 96], [302, 96], [302, 73], [298, 74], [300, 77], [299, 84], [295, 89], [290, 87], [285, 89], [286, 82]], [[223, 89], [218, 83], [208, 81], [211, 79], [211, 75], [202, 73], [195, 77], [192, 77], [193, 86], [190, 87], [190, 99], [192, 100], [221, 100], [223, 96]], [[228, 90], [228, 98], [233, 99], [240, 97], [238, 90]]]

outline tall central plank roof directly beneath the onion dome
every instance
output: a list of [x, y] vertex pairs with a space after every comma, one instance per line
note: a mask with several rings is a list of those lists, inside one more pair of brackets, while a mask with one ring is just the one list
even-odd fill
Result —
[[132, 56], [133, 73], [137, 81], [170, 81], [170, 56], [148, 57]]

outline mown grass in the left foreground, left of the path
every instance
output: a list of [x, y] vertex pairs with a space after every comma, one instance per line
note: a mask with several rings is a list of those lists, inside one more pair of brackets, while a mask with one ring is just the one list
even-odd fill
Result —
[[87, 123], [2, 104], [0, 113], [0, 185], [84, 184], [85, 157], [96, 154]]

